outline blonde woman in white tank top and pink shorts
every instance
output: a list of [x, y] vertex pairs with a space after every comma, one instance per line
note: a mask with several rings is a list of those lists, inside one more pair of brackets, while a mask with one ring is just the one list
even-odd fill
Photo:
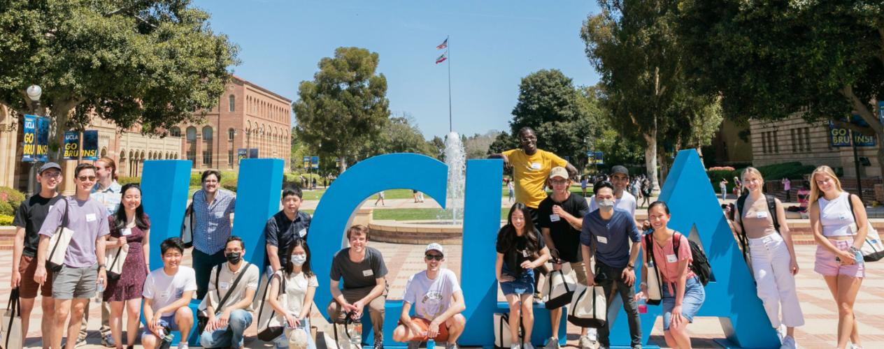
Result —
[[[850, 210], [850, 202], [854, 210]], [[859, 249], [867, 234], [865, 204], [859, 197], [841, 189], [841, 182], [831, 167], [820, 166], [811, 175], [811, 230], [817, 241], [813, 270], [826, 279], [826, 284], [840, 309], [838, 313], [838, 349], [862, 349], [853, 304], [865, 277]], [[856, 236], [850, 230], [857, 223]], [[858, 259], [857, 259], [858, 256]]]

